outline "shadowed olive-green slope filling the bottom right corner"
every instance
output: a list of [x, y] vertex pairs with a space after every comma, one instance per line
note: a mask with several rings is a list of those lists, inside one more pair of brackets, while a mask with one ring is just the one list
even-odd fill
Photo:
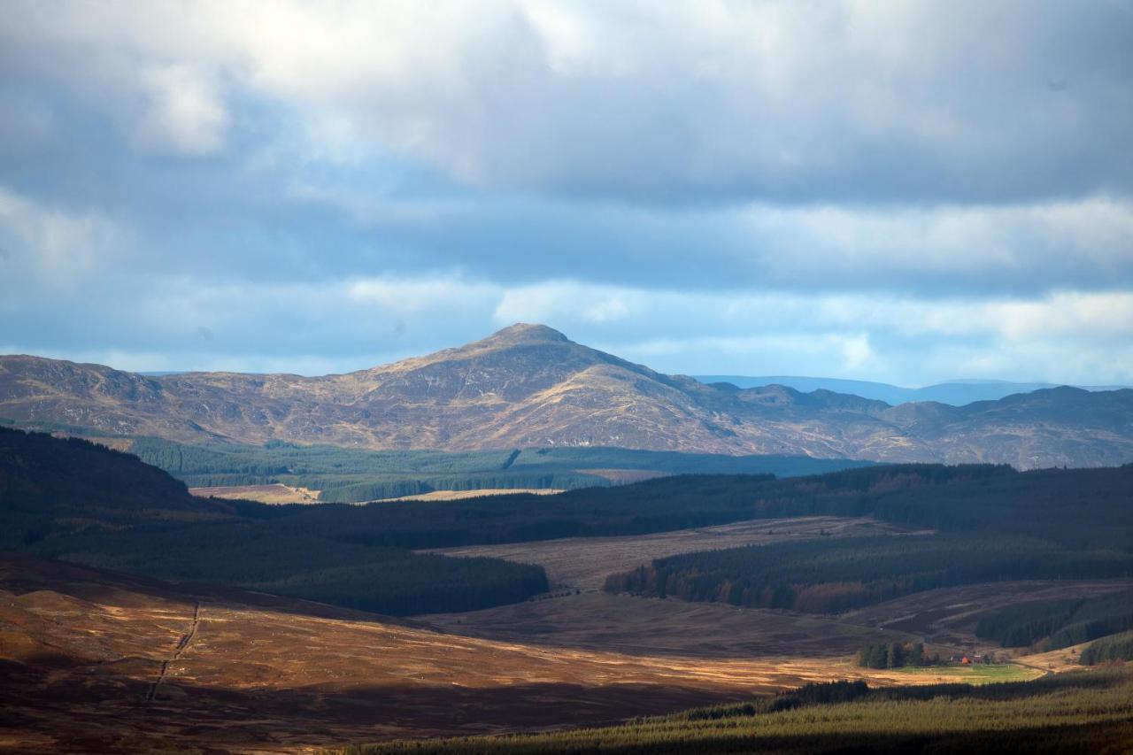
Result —
[[[828, 687], [830, 697], [838, 690]], [[847, 695], [853, 697], [853, 695]], [[821, 689], [749, 705], [691, 711], [622, 726], [514, 737], [389, 743], [348, 753], [824, 753], [1123, 752], [1133, 746], [1133, 672], [1114, 669], [1036, 681], [870, 690], [824, 703]], [[795, 699], [792, 701], [791, 698]], [[777, 701], [777, 702], [776, 702]], [[768, 709], [786, 707], [774, 712]]]

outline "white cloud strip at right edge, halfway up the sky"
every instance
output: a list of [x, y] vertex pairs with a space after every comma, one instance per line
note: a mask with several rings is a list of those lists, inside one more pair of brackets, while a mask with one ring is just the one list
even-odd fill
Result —
[[1106, 196], [909, 209], [759, 204], [742, 222], [760, 266], [781, 285], [904, 279], [1010, 290], [1133, 280], [1133, 204]]

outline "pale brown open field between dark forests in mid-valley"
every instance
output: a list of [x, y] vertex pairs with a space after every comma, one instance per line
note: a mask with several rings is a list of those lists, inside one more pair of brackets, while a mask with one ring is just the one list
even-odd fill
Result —
[[568, 589], [600, 589], [607, 575], [632, 569], [653, 559], [736, 545], [761, 545], [784, 540], [915, 534], [896, 525], [863, 517], [795, 517], [756, 519], [715, 527], [679, 529], [619, 537], [564, 537], [504, 545], [437, 549], [444, 555], [488, 555], [538, 563], [553, 585]]

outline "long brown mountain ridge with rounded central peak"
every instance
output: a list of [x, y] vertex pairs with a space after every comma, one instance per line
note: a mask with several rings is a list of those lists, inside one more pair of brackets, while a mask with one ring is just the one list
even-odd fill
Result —
[[25, 426], [194, 442], [373, 449], [562, 446], [994, 461], [1133, 459], [1133, 390], [1055, 388], [963, 407], [664, 375], [545, 325], [343, 375], [139, 375], [0, 357], [0, 417]]

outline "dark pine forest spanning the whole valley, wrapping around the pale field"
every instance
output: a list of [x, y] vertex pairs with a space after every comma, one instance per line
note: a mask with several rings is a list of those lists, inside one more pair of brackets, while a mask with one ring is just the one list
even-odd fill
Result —
[[133, 455], [0, 429], [0, 548], [394, 614], [514, 602], [547, 587], [539, 567], [409, 549], [807, 515], [932, 532], [691, 553], [615, 575], [607, 589], [832, 612], [978, 582], [1127, 577], [1131, 501], [1133, 465], [895, 465], [787, 478], [676, 475], [554, 497], [266, 506], [197, 499]]

